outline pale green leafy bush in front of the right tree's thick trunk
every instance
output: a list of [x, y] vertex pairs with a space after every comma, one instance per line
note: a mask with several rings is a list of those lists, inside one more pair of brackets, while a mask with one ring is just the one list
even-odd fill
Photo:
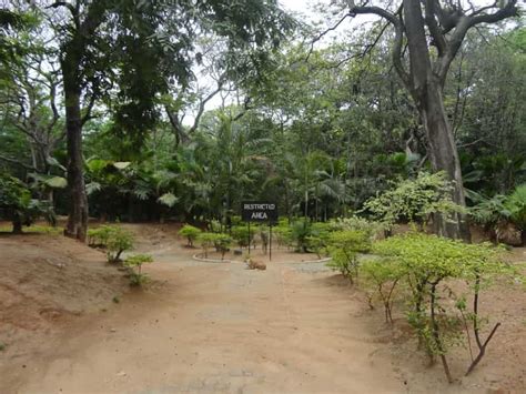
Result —
[[452, 201], [453, 185], [444, 172], [421, 172], [415, 180], [403, 180], [391, 190], [367, 200], [363, 211], [387, 228], [401, 220], [425, 224], [432, 213], [452, 214], [463, 208]]

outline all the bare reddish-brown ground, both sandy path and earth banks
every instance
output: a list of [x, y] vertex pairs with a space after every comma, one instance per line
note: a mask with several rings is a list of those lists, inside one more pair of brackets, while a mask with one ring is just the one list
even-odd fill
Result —
[[323, 264], [285, 252], [266, 271], [200, 263], [173, 226], [127, 226], [155, 260], [143, 291], [74, 241], [0, 235], [0, 393], [526, 391], [519, 285], [484, 295], [503, 326], [473, 375], [466, 352], [452, 354], [448, 385], [402, 316], [386, 326]]

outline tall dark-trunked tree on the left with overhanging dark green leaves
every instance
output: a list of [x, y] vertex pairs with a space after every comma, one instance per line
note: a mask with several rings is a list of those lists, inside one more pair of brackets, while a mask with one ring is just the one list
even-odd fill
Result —
[[[277, 46], [282, 30], [291, 27], [276, 1], [262, 0], [72, 0], [47, 9], [62, 38], [70, 190], [67, 234], [79, 240], [85, 240], [88, 228], [82, 127], [97, 101], [112, 90], [111, 82], [119, 88], [110, 101], [115, 132], [132, 134], [140, 142], [156, 119], [158, 93], [184, 87], [191, 78], [191, 65], [199, 58], [198, 34], [213, 31], [226, 38], [226, 61], [242, 49], [251, 54], [246, 59], [260, 61], [265, 50]], [[245, 62], [240, 65], [232, 70], [253, 69]]]

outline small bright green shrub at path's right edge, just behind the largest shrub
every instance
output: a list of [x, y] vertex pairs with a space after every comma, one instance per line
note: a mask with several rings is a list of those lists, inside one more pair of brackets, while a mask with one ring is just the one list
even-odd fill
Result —
[[371, 236], [364, 231], [336, 231], [328, 236], [327, 250], [332, 257], [327, 266], [340, 271], [354, 283], [358, 277], [358, 253], [371, 250]]

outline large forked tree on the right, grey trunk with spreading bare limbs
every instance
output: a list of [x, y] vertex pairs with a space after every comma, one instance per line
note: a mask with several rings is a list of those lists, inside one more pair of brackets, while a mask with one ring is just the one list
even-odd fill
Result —
[[[443, 89], [447, 71], [467, 31], [479, 23], [495, 23], [516, 16], [516, 2], [517, 0], [507, 0], [503, 7], [495, 2], [477, 10], [472, 8], [468, 13], [451, 2], [442, 7], [439, 0], [402, 0], [396, 12], [367, 6], [367, 1], [363, 6], [355, 6], [354, 1], [347, 0], [350, 17], [373, 13], [393, 26], [393, 64], [418, 110], [433, 170], [447, 173], [454, 184], [453, 201], [463, 206], [465, 196], [461, 163], [444, 109]], [[402, 50], [404, 39], [407, 42], [408, 70]], [[431, 55], [432, 46], [437, 52], [434, 57]], [[469, 228], [464, 216], [457, 214], [452, 221], [436, 215], [435, 231], [444, 236], [469, 241]]]

